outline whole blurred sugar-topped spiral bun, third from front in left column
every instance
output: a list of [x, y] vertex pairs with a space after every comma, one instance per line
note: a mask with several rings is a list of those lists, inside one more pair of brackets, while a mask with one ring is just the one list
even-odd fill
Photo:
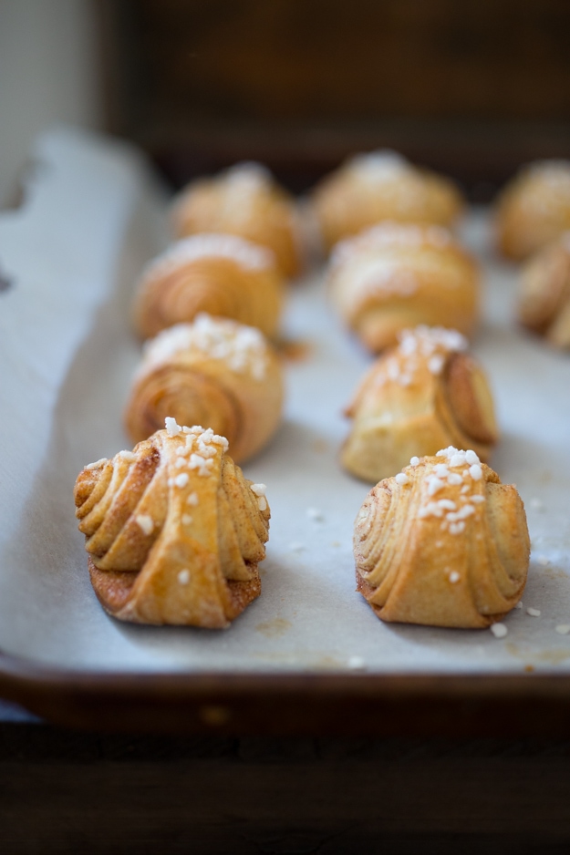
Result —
[[274, 336], [284, 286], [274, 255], [233, 234], [196, 234], [176, 242], [142, 274], [135, 325], [150, 338], [206, 312]]

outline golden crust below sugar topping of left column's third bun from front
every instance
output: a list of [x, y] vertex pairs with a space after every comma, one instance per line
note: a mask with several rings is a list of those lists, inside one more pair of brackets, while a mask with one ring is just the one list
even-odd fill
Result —
[[135, 297], [134, 323], [141, 338], [150, 338], [206, 312], [255, 326], [273, 337], [283, 295], [281, 276], [272, 264], [246, 269], [231, 258], [212, 253], [170, 267], [150, 267]]

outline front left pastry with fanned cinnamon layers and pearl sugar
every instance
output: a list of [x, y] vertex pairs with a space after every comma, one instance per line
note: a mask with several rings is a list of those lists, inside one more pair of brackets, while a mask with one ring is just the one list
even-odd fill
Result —
[[91, 582], [120, 620], [220, 628], [261, 592], [264, 485], [244, 479], [223, 437], [168, 421], [78, 476]]

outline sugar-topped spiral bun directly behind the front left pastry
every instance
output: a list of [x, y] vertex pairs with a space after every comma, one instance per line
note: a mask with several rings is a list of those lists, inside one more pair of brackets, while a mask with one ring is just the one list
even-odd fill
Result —
[[212, 427], [241, 462], [273, 436], [282, 407], [281, 365], [259, 330], [199, 314], [147, 342], [125, 422], [133, 442], [150, 437], [167, 416]]

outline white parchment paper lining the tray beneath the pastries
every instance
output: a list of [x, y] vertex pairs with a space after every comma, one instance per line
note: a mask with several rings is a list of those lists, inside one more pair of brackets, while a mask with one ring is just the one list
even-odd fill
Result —
[[[0, 215], [0, 649], [85, 670], [370, 673], [568, 671], [570, 355], [513, 321], [516, 270], [493, 259], [489, 217], [463, 237], [481, 260], [485, 317], [473, 346], [490, 376], [502, 441], [492, 466], [516, 483], [533, 541], [523, 609], [508, 634], [384, 624], [355, 592], [352, 524], [369, 485], [337, 464], [341, 415], [370, 362], [326, 304], [322, 273], [291, 289], [285, 421], [244, 466], [267, 484], [263, 593], [230, 629], [140, 627], [99, 606], [73, 485], [88, 462], [130, 448], [122, 408], [140, 345], [130, 298], [166, 242], [166, 198], [140, 155], [58, 129], [40, 139], [26, 201]], [[540, 609], [540, 617], [526, 613]]]

